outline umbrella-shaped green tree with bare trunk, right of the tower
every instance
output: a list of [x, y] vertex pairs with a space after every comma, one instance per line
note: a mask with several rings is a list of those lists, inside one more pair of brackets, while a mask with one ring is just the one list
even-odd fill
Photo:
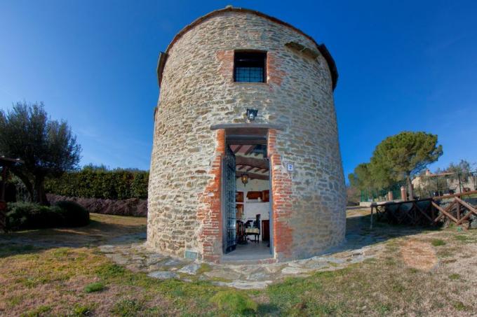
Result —
[[406, 180], [409, 197], [412, 192], [412, 176], [436, 162], [443, 154], [437, 145], [437, 135], [426, 132], [401, 132], [379, 143], [372, 153], [373, 171], [382, 171], [392, 181]]

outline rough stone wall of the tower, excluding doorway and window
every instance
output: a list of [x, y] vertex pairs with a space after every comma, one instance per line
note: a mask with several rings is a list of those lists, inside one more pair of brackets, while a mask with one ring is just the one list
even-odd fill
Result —
[[[210, 126], [245, 122], [250, 107], [259, 110], [255, 122], [285, 127], [271, 132], [276, 259], [304, 258], [344, 239], [346, 195], [330, 70], [321, 55], [312, 59], [286, 47], [290, 41], [317, 50], [307, 36], [282, 24], [252, 13], [224, 12], [196, 25], [170, 48], [155, 116], [150, 246], [180, 256], [186, 249], [206, 256], [207, 250], [221, 252], [204, 244], [203, 215], [212, 206], [204, 197], [213, 200], [220, 188], [220, 140]], [[267, 83], [234, 83], [238, 49], [268, 52]], [[293, 162], [295, 171], [288, 173], [286, 162]], [[289, 234], [282, 243], [278, 230], [285, 228]]]

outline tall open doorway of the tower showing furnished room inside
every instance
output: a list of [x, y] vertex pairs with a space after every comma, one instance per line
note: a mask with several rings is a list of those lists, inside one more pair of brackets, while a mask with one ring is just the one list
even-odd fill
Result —
[[267, 136], [227, 136], [224, 158], [224, 257], [271, 258], [271, 186]]

